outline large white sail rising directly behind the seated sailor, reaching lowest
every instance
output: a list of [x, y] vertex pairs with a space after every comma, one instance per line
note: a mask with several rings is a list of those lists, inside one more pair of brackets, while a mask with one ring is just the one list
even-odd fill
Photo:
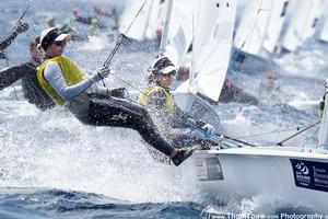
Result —
[[215, 102], [229, 67], [235, 13], [235, 0], [199, 0], [196, 8], [190, 90]]

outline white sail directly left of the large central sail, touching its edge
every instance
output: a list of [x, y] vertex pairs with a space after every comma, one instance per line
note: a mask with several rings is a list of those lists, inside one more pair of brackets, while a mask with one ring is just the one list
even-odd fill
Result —
[[[167, 12], [169, 24], [167, 35], [164, 33], [161, 48], [176, 67], [179, 67], [184, 61], [188, 47], [192, 42], [192, 9], [194, 1], [190, 0], [174, 0], [172, 11]], [[167, 36], [165, 38], [165, 36]]]

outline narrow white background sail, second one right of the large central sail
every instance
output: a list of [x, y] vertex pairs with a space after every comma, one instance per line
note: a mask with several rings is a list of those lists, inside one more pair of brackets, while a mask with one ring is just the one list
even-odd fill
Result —
[[289, 5], [289, 0], [273, 0], [269, 23], [267, 26], [262, 47], [273, 53], [282, 30]]

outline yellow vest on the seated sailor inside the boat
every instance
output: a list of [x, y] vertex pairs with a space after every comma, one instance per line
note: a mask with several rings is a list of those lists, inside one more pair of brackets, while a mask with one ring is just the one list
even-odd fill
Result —
[[173, 112], [174, 111], [174, 100], [171, 93], [168, 93], [164, 88], [159, 87], [159, 85], [151, 85], [147, 89], [143, 90], [142, 93], [140, 93], [138, 102], [139, 104], [145, 106], [147, 103], [149, 102], [149, 96], [151, 96], [153, 93], [156, 92], [164, 92], [165, 96], [166, 96], [166, 108], [168, 110], [168, 112]]

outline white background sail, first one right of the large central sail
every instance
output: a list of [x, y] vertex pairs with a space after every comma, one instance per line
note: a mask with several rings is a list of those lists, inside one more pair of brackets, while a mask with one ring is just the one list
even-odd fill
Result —
[[234, 39], [234, 45], [238, 49], [253, 55], [259, 54], [272, 4], [273, 0], [247, 2]]

